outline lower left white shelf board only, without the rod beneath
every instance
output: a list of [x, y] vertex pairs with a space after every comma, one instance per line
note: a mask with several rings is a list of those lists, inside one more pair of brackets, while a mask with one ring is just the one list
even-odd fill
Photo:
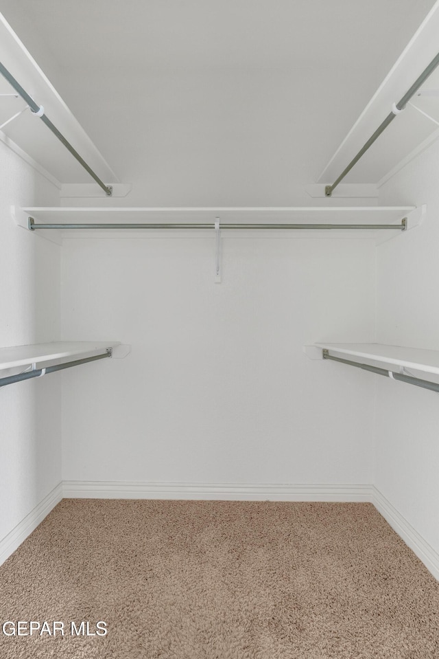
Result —
[[0, 348], [0, 370], [17, 366], [42, 366], [52, 361], [74, 361], [94, 355], [103, 355], [108, 348], [117, 348], [120, 342], [57, 341], [29, 346]]

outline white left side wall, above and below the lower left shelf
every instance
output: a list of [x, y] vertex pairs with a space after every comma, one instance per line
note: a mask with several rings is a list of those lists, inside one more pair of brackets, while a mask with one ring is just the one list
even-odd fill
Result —
[[[60, 248], [14, 225], [11, 206], [58, 189], [0, 142], [0, 346], [59, 339]], [[54, 374], [58, 375], [58, 374]], [[61, 479], [60, 379], [0, 388], [0, 541]]]

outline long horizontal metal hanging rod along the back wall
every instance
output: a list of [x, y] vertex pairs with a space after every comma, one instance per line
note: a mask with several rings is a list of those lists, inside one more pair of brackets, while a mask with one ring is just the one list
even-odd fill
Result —
[[[36, 224], [33, 217], [28, 219], [28, 228], [35, 229], [215, 229], [211, 223], [154, 223], [154, 224]], [[221, 224], [220, 229], [373, 229], [396, 230], [407, 229], [407, 218], [401, 224]]]

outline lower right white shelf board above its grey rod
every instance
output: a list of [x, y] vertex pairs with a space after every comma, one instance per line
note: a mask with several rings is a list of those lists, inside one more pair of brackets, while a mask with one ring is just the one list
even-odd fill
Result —
[[335, 355], [360, 357], [379, 362], [383, 364], [383, 368], [391, 365], [439, 375], [439, 350], [375, 343], [317, 343], [313, 346], [305, 346], [304, 350], [311, 359], [322, 359], [322, 350], [329, 350]]

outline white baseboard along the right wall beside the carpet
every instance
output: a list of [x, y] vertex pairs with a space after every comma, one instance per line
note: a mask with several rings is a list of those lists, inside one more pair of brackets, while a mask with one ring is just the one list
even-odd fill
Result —
[[403, 539], [405, 544], [424, 563], [427, 570], [439, 581], [438, 552], [419, 535], [412, 524], [405, 520], [405, 517], [392, 506], [390, 501], [375, 486], [372, 487], [372, 503], [377, 511], [383, 515], [385, 521], [392, 526], [393, 530]]

